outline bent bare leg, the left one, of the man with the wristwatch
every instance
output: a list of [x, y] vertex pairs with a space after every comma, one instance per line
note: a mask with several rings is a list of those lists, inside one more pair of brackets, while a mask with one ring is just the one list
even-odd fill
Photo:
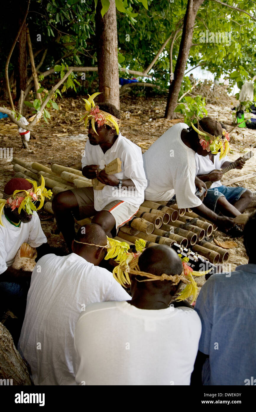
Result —
[[72, 212], [79, 213], [78, 203], [71, 190], [56, 194], [52, 202], [53, 212], [58, 228], [60, 229], [71, 253], [71, 243], [76, 236], [75, 221]]

